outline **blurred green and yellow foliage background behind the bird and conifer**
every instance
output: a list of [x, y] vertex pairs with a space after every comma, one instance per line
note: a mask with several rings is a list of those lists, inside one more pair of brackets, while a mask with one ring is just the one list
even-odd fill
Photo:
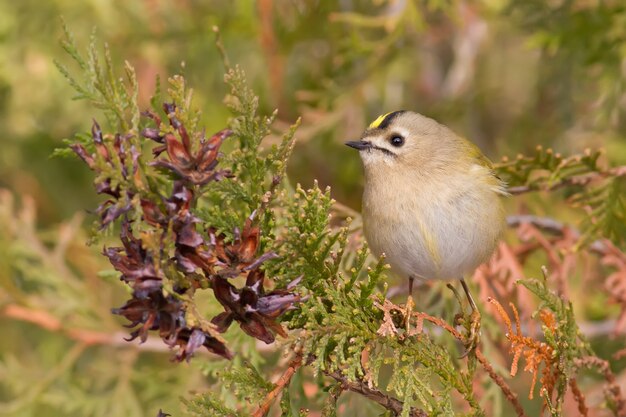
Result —
[[[607, 163], [626, 163], [622, 0], [0, 2], [1, 415], [179, 415], [179, 396], [203, 387], [203, 365], [170, 365], [156, 346], [68, 342], [68, 323], [120, 330], [108, 308], [124, 290], [101, 272], [109, 267], [99, 248], [84, 246], [86, 211], [98, 203], [91, 173], [50, 157], [101, 117], [72, 100], [55, 66], [76, 69], [59, 43], [62, 19], [79, 45], [95, 32], [119, 68], [135, 67], [144, 107], [155, 76], [184, 74], [207, 131], [229, 117], [219, 27], [261, 111], [278, 109], [278, 129], [302, 117], [290, 181], [331, 185], [355, 210], [360, 161], [342, 143], [397, 109], [444, 122], [494, 160], [542, 145], [563, 154], [603, 147]], [[593, 297], [583, 316], [610, 318], [606, 298]], [[7, 313], [26, 298], [41, 320]]]

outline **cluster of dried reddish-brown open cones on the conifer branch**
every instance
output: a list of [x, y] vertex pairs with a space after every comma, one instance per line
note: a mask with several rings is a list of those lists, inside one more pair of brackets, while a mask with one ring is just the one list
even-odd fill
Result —
[[[122, 246], [105, 248], [104, 255], [133, 291], [124, 306], [112, 311], [135, 328], [129, 340], [144, 342], [150, 331], [158, 331], [166, 344], [179, 348], [176, 360], [189, 359], [202, 346], [232, 358], [219, 333], [233, 321], [265, 343], [272, 343], [276, 333], [286, 336], [276, 319], [299, 301], [294, 292], [297, 282], [266, 292], [261, 267], [276, 254], [257, 256], [261, 230], [255, 224], [255, 213], [248, 217], [242, 232], [234, 230], [230, 240], [215, 227], [199, 227], [201, 220], [195, 213], [199, 190], [233, 176], [229, 170], [217, 169], [220, 145], [232, 131], [225, 129], [206, 139], [204, 133], [187, 131], [173, 103], [165, 103], [163, 110], [169, 126], [163, 126], [157, 114], [147, 112], [144, 115], [156, 127], [144, 129], [142, 136], [160, 144], [152, 149], [153, 158], [167, 154], [167, 159], [153, 160], [147, 166], [173, 176], [168, 196], [162, 195], [163, 187], [151, 187], [150, 179], [143, 178], [148, 175], [142, 172], [141, 151], [129, 141], [131, 135], [116, 134], [111, 140], [94, 121], [95, 152], [82, 144], [71, 146], [97, 173], [96, 190], [111, 196], [98, 209], [100, 227], [122, 218]], [[131, 216], [133, 213], [137, 215]], [[139, 236], [133, 233], [133, 226]], [[238, 288], [233, 280], [242, 275], [245, 285]], [[190, 299], [196, 290], [207, 287], [224, 312], [211, 321], [194, 316], [195, 324], [189, 325]]]

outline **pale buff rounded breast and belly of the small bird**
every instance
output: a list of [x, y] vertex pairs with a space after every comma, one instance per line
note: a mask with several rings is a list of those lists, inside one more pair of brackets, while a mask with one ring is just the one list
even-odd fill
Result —
[[[392, 269], [416, 279], [458, 279], [494, 251], [504, 225], [498, 194], [484, 182], [447, 176], [437, 181], [368, 184], [365, 236]], [[473, 184], [473, 185], [469, 185]]]

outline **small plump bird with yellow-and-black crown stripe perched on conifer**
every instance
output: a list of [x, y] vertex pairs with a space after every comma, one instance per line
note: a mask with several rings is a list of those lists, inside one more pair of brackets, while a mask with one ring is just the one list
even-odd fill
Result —
[[480, 312], [463, 277], [485, 262], [505, 225], [505, 184], [472, 142], [435, 120], [394, 111], [374, 120], [358, 141], [365, 171], [363, 225], [377, 255], [413, 281], [460, 280], [472, 309], [466, 352], [476, 348]]

